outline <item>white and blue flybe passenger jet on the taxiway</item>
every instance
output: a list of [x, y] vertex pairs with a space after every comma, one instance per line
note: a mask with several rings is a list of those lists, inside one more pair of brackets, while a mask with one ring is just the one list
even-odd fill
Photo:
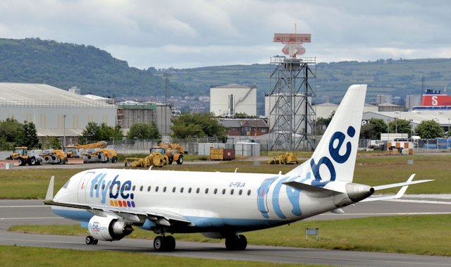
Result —
[[[100, 168], [73, 175], [44, 204], [58, 216], [80, 221], [86, 244], [121, 240], [133, 227], [151, 230], [154, 250], [175, 250], [175, 233], [200, 232], [245, 250], [242, 232], [286, 225], [359, 201], [402, 197], [416, 180], [371, 187], [352, 182], [366, 85], [352, 85], [311, 158], [288, 173], [220, 173]], [[376, 174], [375, 174], [376, 175]], [[402, 187], [395, 196], [371, 197]]]

